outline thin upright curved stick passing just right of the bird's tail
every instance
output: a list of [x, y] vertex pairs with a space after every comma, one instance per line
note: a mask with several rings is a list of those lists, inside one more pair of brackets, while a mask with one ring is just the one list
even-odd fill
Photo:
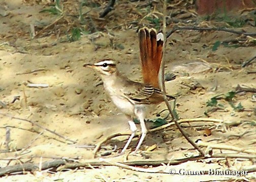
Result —
[[[164, 7], [166, 7], [166, 4], [167, 4], [167, 0], [165, 0], [164, 1]], [[166, 10], [165, 10], [166, 11]], [[163, 27], [163, 32], [164, 32], [164, 35], [165, 35], [165, 33], [166, 33], [166, 20], [165, 20], [166, 18], [165, 18], [165, 15], [164, 15], [164, 20], [163, 20], [163, 22], [165, 22], [164, 23], [164, 27]], [[176, 30], [175, 30], [176, 31]], [[170, 34], [171, 35], [171, 34]], [[166, 39], [167, 39], [168, 37], [166, 37]], [[165, 42], [166, 42], [166, 40], [165, 40]], [[165, 45], [164, 45], [164, 47], [163, 47], [163, 53], [165, 53], [165, 49], [166, 49], [166, 43], [165, 43]], [[176, 124], [176, 126], [178, 127], [178, 129], [179, 129], [179, 131], [182, 133], [182, 135], [185, 137], [185, 139], [195, 148], [195, 149], [197, 149], [200, 153], [201, 153], [201, 155], [203, 156], [204, 155], [204, 152], [203, 152], [203, 150], [201, 150], [198, 146], [197, 146], [197, 144], [195, 144], [189, 137], [188, 137], [188, 135], [186, 134], [186, 132], [182, 129], [182, 127], [180, 126], [180, 124], [177, 122], [177, 120], [179, 119], [178, 118], [178, 116], [177, 116], [177, 114], [174, 112], [174, 110], [172, 110], [172, 107], [171, 107], [171, 105], [170, 105], [170, 103], [168, 102], [168, 99], [167, 99], [167, 96], [166, 96], [166, 87], [165, 87], [165, 54], [163, 54], [163, 60], [162, 60], [162, 62], [161, 62], [161, 66], [160, 66], [160, 71], [159, 71], [159, 77], [158, 77], [158, 79], [159, 79], [159, 86], [160, 86], [160, 88], [162, 89], [162, 92], [163, 92], [163, 96], [164, 96], [164, 99], [165, 99], [165, 103], [166, 103], [166, 106], [167, 106], [167, 108], [169, 109], [169, 112], [170, 112], [170, 114], [171, 114], [171, 116], [172, 116], [172, 118], [173, 118], [173, 121], [175, 122], [175, 124]], [[175, 106], [174, 106], [175, 107]]]

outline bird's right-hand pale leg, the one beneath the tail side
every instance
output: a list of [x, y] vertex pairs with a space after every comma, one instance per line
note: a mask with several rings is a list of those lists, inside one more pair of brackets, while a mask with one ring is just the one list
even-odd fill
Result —
[[136, 107], [135, 108], [135, 115], [137, 116], [137, 118], [140, 120], [140, 125], [141, 125], [141, 138], [140, 138], [140, 141], [135, 149], [135, 151], [133, 152], [133, 154], [136, 154], [137, 151], [140, 149], [140, 146], [142, 144], [142, 142], [144, 141], [145, 139], [145, 136], [147, 134], [147, 127], [146, 127], [146, 124], [145, 124], [145, 121], [144, 121], [144, 107]]

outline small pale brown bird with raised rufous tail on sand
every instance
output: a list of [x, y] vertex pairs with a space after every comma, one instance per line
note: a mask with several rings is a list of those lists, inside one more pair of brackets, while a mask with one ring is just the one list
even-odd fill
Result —
[[[145, 116], [148, 109], [162, 103], [163, 93], [159, 86], [159, 69], [163, 58], [164, 34], [156, 32], [154, 28], [139, 29], [140, 62], [142, 67], [143, 83], [130, 80], [120, 74], [113, 59], [103, 59], [94, 64], [84, 64], [95, 70], [101, 77], [106, 93], [115, 106], [126, 115], [132, 134], [120, 154], [124, 154], [133, 140], [137, 126], [133, 117], [140, 121], [141, 137], [133, 154], [136, 154], [147, 134]], [[169, 101], [175, 100], [167, 95]]]

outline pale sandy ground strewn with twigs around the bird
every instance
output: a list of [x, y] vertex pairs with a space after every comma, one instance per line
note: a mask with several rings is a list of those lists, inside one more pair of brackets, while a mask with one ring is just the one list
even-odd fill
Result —
[[[71, 1], [76, 9], [78, 1]], [[70, 2], [69, 2], [70, 3]], [[71, 3], [71, 4], [72, 4]], [[119, 6], [133, 6], [135, 4], [123, 4]], [[81, 36], [74, 42], [61, 42], [60, 37], [66, 37], [63, 32], [57, 34], [58, 24], [46, 29], [42, 36], [30, 38], [30, 25], [44, 22], [52, 23], [58, 17], [49, 13], [39, 13], [48, 7], [47, 1], [33, 3], [32, 1], [2, 1], [0, 3], [0, 101], [6, 106], [0, 106], [1, 113], [8, 114], [30, 121], [54, 130], [69, 139], [77, 141], [72, 145], [58, 136], [43, 130], [29, 122], [0, 116], [0, 167], [15, 165], [23, 162], [39, 163], [52, 158], [78, 158], [80, 161], [98, 161], [99, 156], [93, 159], [93, 150], [80, 148], [82, 145], [95, 145], [105, 137], [116, 132], [129, 131], [129, 125], [123, 114], [119, 113], [111, 100], [106, 95], [100, 78], [90, 69], [84, 68], [84, 63], [94, 63], [99, 59], [112, 58], [118, 62], [120, 72], [129, 78], [141, 81], [140, 63], [138, 54], [137, 27], [125, 27], [113, 29], [115, 36], [113, 43], [121, 44], [123, 49], [114, 49], [109, 45], [109, 37], [106, 32]], [[131, 7], [130, 7], [131, 8]], [[129, 11], [129, 10], [127, 10]], [[131, 8], [131, 11], [133, 9]], [[86, 12], [86, 11], [85, 11]], [[91, 12], [91, 16], [94, 15]], [[118, 22], [125, 22], [125, 12], [116, 16], [111, 13], [110, 20], [103, 22], [111, 29]], [[131, 20], [131, 16], [127, 19]], [[113, 23], [114, 22], [114, 23]], [[61, 22], [60, 22], [61, 23]], [[60, 24], [59, 23], [59, 24]], [[70, 22], [63, 21], [70, 26]], [[171, 29], [171, 27], [167, 27]], [[238, 30], [241, 30], [238, 29]], [[255, 28], [245, 25], [243, 30], [255, 32]], [[212, 45], [217, 41], [231, 40], [237, 35], [226, 32], [195, 32], [178, 31], [168, 40], [165, 51], [166, 72], [175, 73], [176, 79], [166, 82], [167, 92], [177, 98], [176, 109], [180, 118], [206, 117], [204, 114], [209, 107], [206, 102], [219, 94], [226, 94], [240, 84], [248, 87], [256, 87], [255, 62], [245, 68], [241, 64], [255, 56], [255, 46], [239, 48], [220, 45], [216, 51], [212, 51]], [[48, 84], [45, 88], [29, 87], [29, 83]], [[255, 95], [255, 94], [254, 94]], [[19, 100], [12, 101], [19, 96]], [[224, 100], [218, 101], [223, 105], [223, 110], [208, 112], [209, 118], [221, 119], [229, 122], [240, 122], [236, 126], [228, 126], [223, 123], [210, 127], [208, 122], [198, 122], [199, 127], [185, 127], [191, 139], [194, 141], [210, 141], [213, 144], [225, 144], [243, 149], [256, 150], [255, 147], [255, 100], [253, 93], [242, 93], [235, 96], [233, 103], [239, 103], [244, 111], [235, 111]], [[152, 113], [152, 118], [165, 109], [165, 105], [159, 105]], [[167, 113], [161, 114], [165, 117]], [[148, 127], [152, 123], [148, 122]], [[188, 125], [184, 125], [188, 126]], [[211, 135], [204, 135], [207, 127], [211, 129]], [[5, 145], [6, 128], [10, 129], [9, 151]], [[244, 133], [244, 134], [243, 134]], [[237, 136], [240, 135], [240, 136]], [[125, 137], [116, 138], [105, 147], [117, 145], [120, 150], [126, 141]], [[137, 144], [135, 139], [131, 148], [134, 150]], [[161, 131], [149, 133], [146, 137], [141, 152], [148, 146], [156, 145], [156, 148], [147, 152], [147, 155], [131, 156], [128, 161], [166, 160], [183, 158], [195, 150], [185, 141], [175, 126]], [[23, 149], [26, 149], [23, 151]], [[102, 149], [99, 152], [105, 152]], [[220, 150], [214, 150], [220, 152]], [[222, 150], [222, 152], [230, 152]], [[112, 155], [114, 155], [113, 152]], [[232, 152], [234, 153], [234, 152]], [[107, 159], [123, 162], [123, 156]], [[12, 160], [10, 160], [12, 159]], [[212, 159], [203, 161], [190, 161], [180, 165], [170, 166], [166, 170], [208, 170], [231, 168], [241, 170], [253, 163], [242, 159]], [[159, 166], [161, 167], [161, 166]], [[150, 166], [149, 166], [150, 168]], [[34, 173], [6, 175], [0, 181], [210, 181], [210, 180], [248, 180], [252, 181], [254, 173], [246, 176], [223, 175], [171, 175], [161, 173], [136, 172], [122, 169], [116, 166], [101, 166], [91, 169], [77, 169], [50, 173], [36, 171]]]

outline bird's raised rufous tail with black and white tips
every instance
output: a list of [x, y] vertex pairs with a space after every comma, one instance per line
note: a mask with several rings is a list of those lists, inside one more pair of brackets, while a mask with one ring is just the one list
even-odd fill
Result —
[[139, 30], [140, 60], [145, 84], [159, 88], [158, 73], [163, 58], [164, 34], [151, 28]]

